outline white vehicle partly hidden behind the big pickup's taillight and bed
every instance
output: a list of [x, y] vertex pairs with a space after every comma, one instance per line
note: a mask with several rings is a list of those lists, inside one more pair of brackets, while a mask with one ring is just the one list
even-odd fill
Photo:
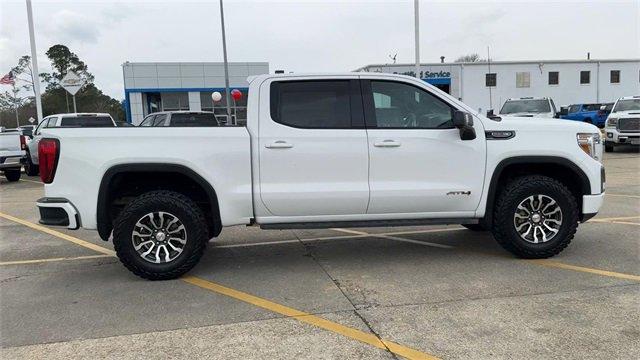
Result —
[[42, 119], [29, 136], [27, 143], [27, 156], [24, 162], [24, 172], [29, 176], [38, 175], [38, 143], [42, 139], [43, 132], [55, 127], [114, 127], [115, 121], [106, 113], [72, 113], [49, 115]]

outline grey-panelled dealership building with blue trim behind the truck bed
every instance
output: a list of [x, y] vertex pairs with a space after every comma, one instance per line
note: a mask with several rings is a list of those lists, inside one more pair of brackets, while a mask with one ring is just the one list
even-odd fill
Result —
[[[232, 113], [246, 119], [247, 77], [269, 73], [267, 62], [230, 62], [229, 87], [243, 93]], [[193, 110], [226, 114], [224, 64], [218, 62], [126, 62], [122, 64], [127, 121], [139, 124], [153, 112]], [[211, 93], [222, 101], [214, 104]]]

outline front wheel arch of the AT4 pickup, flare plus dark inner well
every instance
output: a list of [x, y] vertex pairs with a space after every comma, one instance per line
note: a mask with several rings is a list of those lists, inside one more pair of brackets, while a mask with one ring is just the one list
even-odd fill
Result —
[[499, 187], [510, 178], [527, 174], [546, 175], [566, 185], [576, 197], [582, 220], [582, 195], [591, 194], [591, 182], [578, 165], [558, 156], [515, 156], [500, 161], [493, 170], [487, 194], [485, 224], [493, 223], [493, 208]]

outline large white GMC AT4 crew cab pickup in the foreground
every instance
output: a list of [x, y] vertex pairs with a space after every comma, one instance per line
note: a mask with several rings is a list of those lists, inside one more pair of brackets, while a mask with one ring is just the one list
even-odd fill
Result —
[[232, 225], [464, 224], [545, 258], [602, 204], [591, 124], [488, 119], [401, 75], [249, 83], [246, 127], [47, 129], [41, 222], [97, 229], [129, 270], [170, 279]]

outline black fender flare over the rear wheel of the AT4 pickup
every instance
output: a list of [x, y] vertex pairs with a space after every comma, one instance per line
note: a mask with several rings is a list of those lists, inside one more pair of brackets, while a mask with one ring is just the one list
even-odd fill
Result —
[[162, 163], [132, 163], [132, 164], [119, 164], [114, 165], [105, 171], [100, 181], [100, 187], [98, 190], [98, 201], [96, 208], [96, 227], [100, 238], [104, 241], [108, 241], [113, 230], [113, 220], [109, 214], [109, 202], [110, 202], [110, 189], [111, 181], [113, 177], [122, 173], [131, 172], [167, 172], [178, 173], [187, 176], [191, 180], [200, 185], [209, 198], [211, 203], [212, 214], [217, 214], [214, 217], [214, 236], [220, 233], [222, 230], [222, 222], [220, 220], [220, 209], [218, 208], [218, 195], [211, 186], [211, 184], [205, 180], [200, 174], [196, 173], [192, 169], [178, 164], [162, 164]]

